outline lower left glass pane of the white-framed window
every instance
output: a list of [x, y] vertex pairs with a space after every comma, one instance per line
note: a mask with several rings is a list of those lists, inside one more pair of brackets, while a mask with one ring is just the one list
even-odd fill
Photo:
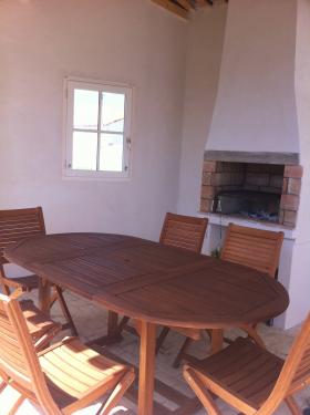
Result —
[[97, 134], [73, 133], [72, 168], [96, 170]]

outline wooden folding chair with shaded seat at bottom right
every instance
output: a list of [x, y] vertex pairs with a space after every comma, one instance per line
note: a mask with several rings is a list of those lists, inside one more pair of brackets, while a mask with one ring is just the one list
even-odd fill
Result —
[[286, 361], [239, 338], [227, 349], [195, 365], [184, 377], [209, 415], [220, 415], [211, 394], [245, 415], [271, 415], [286, 402], [301, 415], [293, 395], [310, 385], [310, 313]]

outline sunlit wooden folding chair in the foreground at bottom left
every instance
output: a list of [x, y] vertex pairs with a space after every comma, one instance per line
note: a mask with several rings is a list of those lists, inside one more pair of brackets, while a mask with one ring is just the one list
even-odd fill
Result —
[[0, 294], [0, 375], [45, 414], [89, 406], [107, 393], [97, 414], [108, 414], [133, 383], [132, 367], [86, 347], [76, 338], [37, 353], [19, 302]]

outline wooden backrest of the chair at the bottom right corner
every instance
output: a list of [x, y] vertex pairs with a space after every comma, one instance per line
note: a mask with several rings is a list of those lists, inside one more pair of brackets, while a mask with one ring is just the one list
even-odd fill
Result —
[[[307, 382], [306, 382], [307, 381]], [[290, 393], [303, 388], [310, 382], [310, 313], [297, 335], [285, 365], [268, 400], [257, 415], [269, 415]]]

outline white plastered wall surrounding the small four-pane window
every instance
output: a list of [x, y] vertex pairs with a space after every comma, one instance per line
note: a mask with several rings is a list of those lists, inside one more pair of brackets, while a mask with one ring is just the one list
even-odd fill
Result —
[[[0, 2], [0, 208], [41, 205], [49, 232], [157, 239], [175, 210], [187, 24], [146, 0]], [[63, 81], [133, 85], [132, 177], [62, 177]]]

